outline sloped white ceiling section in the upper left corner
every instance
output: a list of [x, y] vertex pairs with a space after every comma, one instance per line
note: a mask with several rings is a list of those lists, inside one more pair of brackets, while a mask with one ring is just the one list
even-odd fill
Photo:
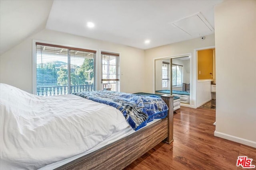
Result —
[[44, 29], [52, 2], [52, 0], [1, 0], [0, 54]]

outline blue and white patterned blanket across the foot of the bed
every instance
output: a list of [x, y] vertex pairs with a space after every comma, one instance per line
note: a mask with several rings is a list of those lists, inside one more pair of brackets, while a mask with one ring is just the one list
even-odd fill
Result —
[[143, 96], [108, 90], [73, 94], [116, 107], [123, 113], [126, 121], [135, 131], [146, 126], [147, 122], [163, 119], [168, 113], [166, 103], [158, 96]]

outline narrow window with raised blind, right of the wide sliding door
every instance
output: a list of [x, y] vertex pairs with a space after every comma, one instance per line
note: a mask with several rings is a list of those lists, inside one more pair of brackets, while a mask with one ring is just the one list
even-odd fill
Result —
[[119, 54], [101, 52], [102, 88], [119, 91]]

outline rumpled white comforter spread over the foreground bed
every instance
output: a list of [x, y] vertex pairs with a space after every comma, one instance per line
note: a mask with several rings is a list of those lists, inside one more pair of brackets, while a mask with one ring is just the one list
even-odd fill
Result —
[[0, 169], [38, 169], [129, 126], [114, 107], [79, 96], [41, 97], [0, 84]]

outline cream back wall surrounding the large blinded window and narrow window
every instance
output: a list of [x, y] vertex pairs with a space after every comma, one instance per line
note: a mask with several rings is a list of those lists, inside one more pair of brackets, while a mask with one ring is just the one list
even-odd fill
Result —
[[[144, 90], [144, 50], [44, 29], [0, 56], [0, 82], [32, 93], [32, 39], [120, 53], [120, 91]], [[100, 73], [98, 72], [98, 76]]]

